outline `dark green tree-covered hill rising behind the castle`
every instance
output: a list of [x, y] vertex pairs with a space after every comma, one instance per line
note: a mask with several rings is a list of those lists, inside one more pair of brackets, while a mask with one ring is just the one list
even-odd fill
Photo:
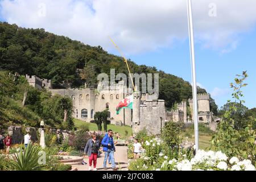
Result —
[[[166, 107], [192, 97], [188, 81], [131, 60], [129, 65], [132, 73], [159, 73], [159, 98], [166, 101]], [[111, 68], [116, 74], [127, 75], [122, 57], [109, 54], [100, 46], [91, 47], [43, 29], [0, 22], [0, 69], [51, 79], [55, 88], [62, 88], [63, 82], [71, 83], [73, 88], [81, 88], [85, 82], [96, 88], [98, 74], [110, 75]], [[205, 92], [199, 88], [199, 93]], [[211, 109], [217, 112], [214, 100]]]

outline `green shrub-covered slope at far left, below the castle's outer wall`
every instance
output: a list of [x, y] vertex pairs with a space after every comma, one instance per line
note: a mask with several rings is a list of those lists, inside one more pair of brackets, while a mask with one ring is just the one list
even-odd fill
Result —
[[[26, 102], [22, 104], [27, 90]], [[66, 122], [64, 110], [68, 110]], [[41, 119], [49, 126], [71, 128], [71, 98], [52, 96], [46, 90], [32, 88], [24, 76], [0, 71], [0, 127], [23, 125], [39, 127]]]

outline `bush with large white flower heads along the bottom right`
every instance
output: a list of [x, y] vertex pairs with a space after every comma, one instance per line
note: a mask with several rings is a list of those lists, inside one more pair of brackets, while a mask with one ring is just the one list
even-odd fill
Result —
[[139, 162], [141, 166], [138, 168], [136, 165], [135, 170], [137, 168], [156, 171], [256, 171], [250, 160], [237, 157], [229, 159], [221, 151], [199, 150], [191, 159], [183, 154], [178, 160], [170, 160], [170, 157], [162, 151], [161, 146], [156, 145], [157, 142], [161, 143], [159, 139], [152, 139], [152, 142], [146, 141], [146, 152]]

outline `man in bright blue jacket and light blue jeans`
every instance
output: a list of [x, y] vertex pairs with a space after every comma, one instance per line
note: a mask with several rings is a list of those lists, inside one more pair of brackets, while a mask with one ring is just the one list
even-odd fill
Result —
[[112, 163], [112, 169], [114, 171], [116, 171], [118, 168], [115, 167], [115, 160], [114, 160], [114, 151], [115, 151], [115, 145], [114, 145], [114, 139], [113, 139], [113, 131], [109, 130], [108, 131], [108, 135], [105, 135], [105, 137], [102, 139], [101, 142], [102, 146], [103, 146], [103, 151], [105, 152], [105, 158], [104, 158], [104, 163], [103, 163], [103, 167], [106, 170], [106, 161], [109, 158], [111, 159], [111, 163]]

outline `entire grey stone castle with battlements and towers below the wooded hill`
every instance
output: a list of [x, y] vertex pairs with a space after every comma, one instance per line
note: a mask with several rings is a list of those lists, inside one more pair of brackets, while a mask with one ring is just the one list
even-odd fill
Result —
[[[31, 86], [38, 89], [47, 89], [52, 95], [60, 94], [73, 101], [73, 118], [85, 122], [93, 122], [97, 111], [108, 109], [108, 122], [114, 125], [127, 125], [133, 127], [133, 133], [146, 128], [149, 133], [160, 134], [164, 122], [193, 122], [193, 100], [181, 102], [176, 110], [166, 111], [164, 100], [158, 100], [155, 94], [134, 93], [133, 110], [122, 109], [117, 115], [115, 108], [123, 98], [130, 96], [129, 88], [123, 81], [112, 86], [105, 86], [104, 82], [98, 88], [84, 89], [52, 89], [51, 80], [40, 79], [36, 76], [26, 75]], [[198, 95], [199, 121], [211, 122], [213, 114], [210, 112], [209, 94]], [[187, 116], [187, 110], [191, 115]], [[189, 118], [190, 117], [190, 118]]]

